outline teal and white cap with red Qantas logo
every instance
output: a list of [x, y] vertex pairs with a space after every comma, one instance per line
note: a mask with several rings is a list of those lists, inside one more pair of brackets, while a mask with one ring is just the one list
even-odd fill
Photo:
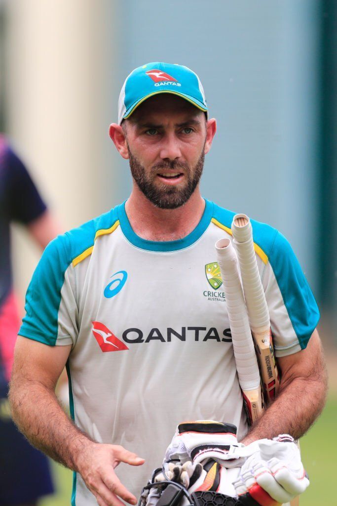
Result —
[[178, 95], [207, 114], [204, 88], [195, 72], [176, 63], [153, 62], [132, 70], [125, 79], [118, 100], [118, 124], [159, 93]]

